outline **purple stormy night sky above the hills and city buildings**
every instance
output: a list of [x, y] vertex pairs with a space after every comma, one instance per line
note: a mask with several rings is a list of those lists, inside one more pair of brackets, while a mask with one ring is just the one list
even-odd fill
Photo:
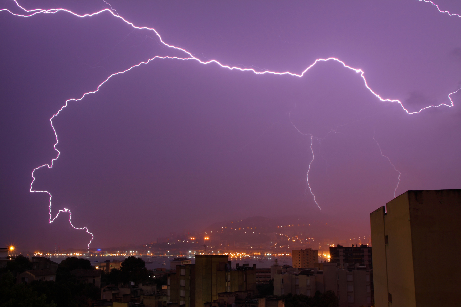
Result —
[[[39, 3], [41, 2], [41, 3]], [[201, 61], [301, 74], [334, 57], [411, 113], [461, 87], [461, 17], [418, 0], [111, 1]], [[435, 1], [461, 14], [459, 1]], [[19, 1], [98, 12], [104, 1]], [[49, 119], [67, 99], [154, 56], [189, 57], [109, 12], [0, 9], [0, 243], [83, 248], [69, 214], [48, 222], [32, 170], [56, 157]], [[72, 212], [92, 247], [145, 243], [221, 220], [299, 215], [369, 234], [369, 214], [407, 190], [460, 188], [461, 91], [409, 115], [330, 60], [302, 77], [154, 59], [53, 119], [59, 159], [35, 171], [51, 214]], [[311, 151], [312, 135], [312, 151]], [[379, 144], [379, 145], [378, 145]], [[382, 150], [382, 152], [380, 151]], [[320, 212], [309, 188], [306, 174]], [[389, 157], [390, 161], [387, 157]], [[395, 168], [391, 165], [391, 163]]]

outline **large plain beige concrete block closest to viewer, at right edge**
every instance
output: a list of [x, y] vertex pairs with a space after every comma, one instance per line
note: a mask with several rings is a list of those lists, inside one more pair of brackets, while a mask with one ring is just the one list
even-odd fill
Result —
[[459, 306], [461, 190], [407, 191], [386, 209], [370, 214], [375, 306]]

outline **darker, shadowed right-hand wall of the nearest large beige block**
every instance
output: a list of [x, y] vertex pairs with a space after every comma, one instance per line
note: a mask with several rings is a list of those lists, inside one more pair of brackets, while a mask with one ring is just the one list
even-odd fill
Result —
[[[459, 306], [461, 190], [408, 191], [416, 305]], [[443, 253], [443, 255], [441, 255]], [[443, 265], [434, 267], [446, 256]]]

